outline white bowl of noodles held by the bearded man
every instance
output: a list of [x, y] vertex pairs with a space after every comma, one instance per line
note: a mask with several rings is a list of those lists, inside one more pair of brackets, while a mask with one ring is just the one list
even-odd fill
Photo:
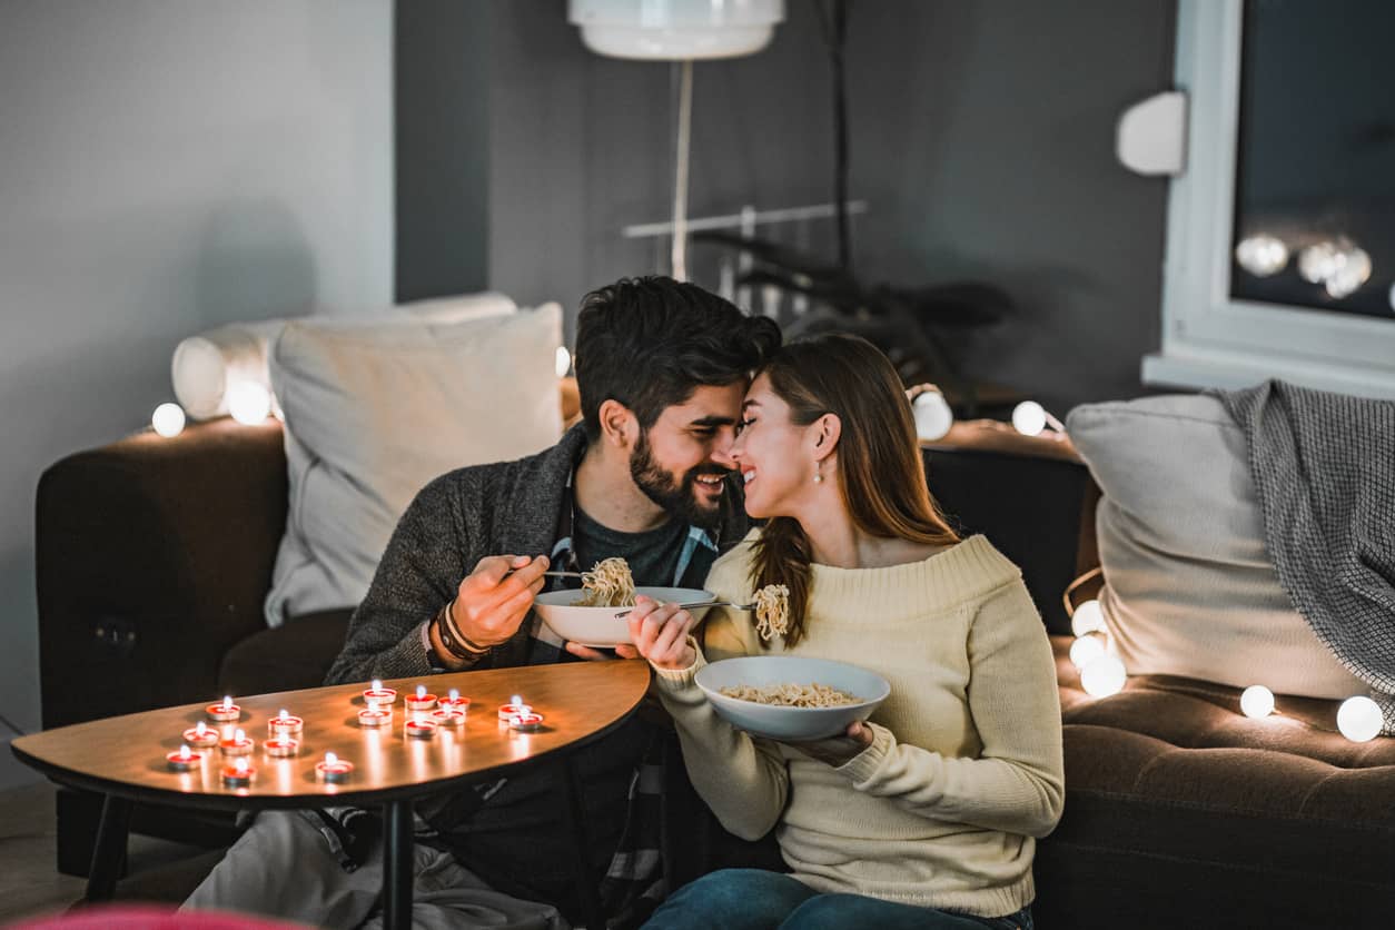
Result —
[[[625, 559], [604, 559], [583, 573], [582, 587], [566, 591], [543, 591], [533, 600], [533, 609], [564, 640], [596, 648], [629, 643], [629, 623], [615, 615], [635, 607], [635, 595], [656, 601], [702, 604], [716, 601], [711, 591], [678, 587], [636, 587]], [[695, 620], [707, 611], [688, 608]]]

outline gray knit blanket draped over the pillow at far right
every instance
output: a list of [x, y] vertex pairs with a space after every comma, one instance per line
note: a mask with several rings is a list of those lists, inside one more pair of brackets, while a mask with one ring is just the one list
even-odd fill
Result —
[[1218, 396], [1249, 439], [1279, 584], [1395, 735], [1395, 402], [1282, 381]]

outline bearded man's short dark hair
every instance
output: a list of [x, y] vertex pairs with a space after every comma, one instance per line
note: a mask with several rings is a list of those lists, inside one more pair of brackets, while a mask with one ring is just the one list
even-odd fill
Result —
[[600, 409], [614, 399], [649, 429], [699, 385], [748, 376], [780, 347], [780, 328], [672, 277], [622, 277], [582, 300], [576, 383], [586, 435], [600, 438]]

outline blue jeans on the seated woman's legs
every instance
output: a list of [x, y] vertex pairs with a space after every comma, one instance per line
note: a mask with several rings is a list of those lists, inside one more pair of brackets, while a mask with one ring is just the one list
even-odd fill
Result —
[[866, 895], [820, 894], [797, 878], [763, 869], [723, 869], [675, 891], [653, 913], [653, 930], [1032, 930], [1031, 908], [1004, 917], [976, 917]]

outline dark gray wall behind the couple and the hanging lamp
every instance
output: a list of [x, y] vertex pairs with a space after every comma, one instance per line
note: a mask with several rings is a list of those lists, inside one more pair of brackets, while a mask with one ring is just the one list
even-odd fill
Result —
[[[488, 284], [575, 308], [598, 283], [665, 270], [665, 244], [619, 229], [670, 212], [671, 67], [591, 54], [562, 0], [474, 14], [490, 35]], [[967, 340], [967, 365], [1060, 411], [1140, 392], [1140, 357], [1158, 344], [1166, 181], [1120, 167], [1113, 132], [1124, 107], [1170, 86], [1173, 17], [1173, 0], [852, 3], [850, 190], [870, 201], [857, 268], [1006, 287], [1020, 314]], [[480, 88], [453, 93], [462, 125], [477, 123]], [[405, 106], [399, 95], [399, 117]], [[831, 199], [831, 151], [808, 0], [790, 0], [760, 54], [696, 66], [691, 215]], [[448, 198], [458, 183], [437, 181]], [[804, 244], [831, 258], [829, 234], [804, 230]]]

